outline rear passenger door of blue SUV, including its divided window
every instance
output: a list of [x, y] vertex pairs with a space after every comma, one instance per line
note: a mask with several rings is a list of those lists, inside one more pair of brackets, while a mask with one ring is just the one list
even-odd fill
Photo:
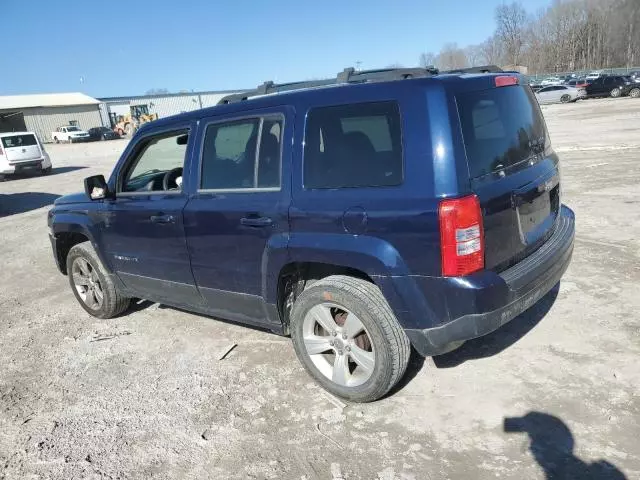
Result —
[[[285, 255], [289, 231], [288, 161], [293, 122], [287, 110], [203, 121], [197, 193], [185, 208], [196, 284], [212, 313], [264, 322], [273, 255]], [[292, 115], [291, 115], [292, 117]], [[194, 165], [197, 161], [194, 159]]]

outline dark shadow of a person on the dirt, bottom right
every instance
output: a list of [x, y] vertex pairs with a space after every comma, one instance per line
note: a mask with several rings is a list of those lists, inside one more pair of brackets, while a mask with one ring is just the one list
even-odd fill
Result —
[[523, 417], [506, 417], [506, 433], [529, 435], [529, 450], [542, 467], [546, 480], [626, 480], [615, 465], [598, 460], [587, 463], [573, 454], [575, 441], [569, 427], [558, 417], [529, 412]]

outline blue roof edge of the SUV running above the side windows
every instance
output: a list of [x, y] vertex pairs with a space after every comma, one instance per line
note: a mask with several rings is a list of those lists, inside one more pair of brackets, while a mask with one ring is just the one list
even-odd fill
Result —
[[[172, 115], [169, 117], [160, 118], [153, 122], [143, 124], [138, 131], [146, 131], [150, 128], [162, 128], [171, 126], [175, 123], [194, 121], [203, 117], [216, 116], [216, 115], [228, 115], [243, 112], [257, 110], [262, 108], [277, 107], [282, 105], [295, 105], [299, 103], [315, 103], [319, 99], [331, 98], [334, 93], [338, 91], [342, 92], [344, 89], [352, 89], [354, 92], [362, 92], [370, 90], [371, 92], [379, 91], [381, 98], [387, 97], [389, 89], [402, 89], [412, 88], [415, 86], [436, 86], [442, 83], [458, 82], [461, 79], [476, 78], [476, 77], [495, 77], [500, 75], [518, 75], [517, 72], [502, 72], [502, 73], [444, 73], [434, 76], [407, 78], [403, 80], [389, 80], [380, 82], [364, 82], [364, 83], [334, 83], [330, 85], [320, 85], [313, 87], [305, 87], [297, 90], [290, 90], [285, 92], [268, 93], [263, 95], [255, 95], [247, 100], [237, 101], [228, 104], [218, 104], [212, 107], [207, 107], [199, 110], [192, 110], [189, 112]], [[524, 82], [521, 81], [522, 84]], [[383, 95], [384, 93], [384, 95]]]

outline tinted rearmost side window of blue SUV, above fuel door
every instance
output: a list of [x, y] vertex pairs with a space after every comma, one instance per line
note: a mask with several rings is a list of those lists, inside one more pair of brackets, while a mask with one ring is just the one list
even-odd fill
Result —
[[386, 187], [402, 183], [396, 102], [321, 107], [307, 116], [305, 188]]

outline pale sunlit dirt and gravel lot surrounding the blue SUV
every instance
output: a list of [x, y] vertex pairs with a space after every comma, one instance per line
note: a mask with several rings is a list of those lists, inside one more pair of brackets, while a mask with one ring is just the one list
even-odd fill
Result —
[[[640, 478], [640, 101], [544, 111], [577, 215], [559, 289], [344, 408], [287, 338], [157, 305], [88, 316], [46, 205], [126, 142], [48, 147], [54, 174], [0, 183], [0, 479]], [[504, 431], [522, 415], [529, 434]]]

